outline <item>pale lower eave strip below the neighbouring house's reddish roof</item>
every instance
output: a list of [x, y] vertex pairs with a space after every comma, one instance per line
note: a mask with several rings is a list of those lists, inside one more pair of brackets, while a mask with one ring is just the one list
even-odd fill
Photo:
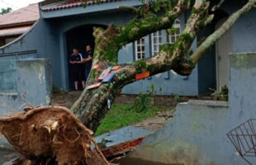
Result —
[[12, 27], [0, 30], [0, 37], [8, 35], [22, 35], [26, 31], [29, 31], [31, 26]]

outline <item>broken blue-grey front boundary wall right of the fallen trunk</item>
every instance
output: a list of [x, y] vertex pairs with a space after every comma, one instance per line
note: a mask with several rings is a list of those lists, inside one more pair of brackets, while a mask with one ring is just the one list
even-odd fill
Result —
[[231, 54], [229, 107], [220, 101], [179, 104], [164, 129], [149, 135], [130, 158], [184, 165], [246, 164], [226, 134], [256, 118], [255, 81], [256, 53]]

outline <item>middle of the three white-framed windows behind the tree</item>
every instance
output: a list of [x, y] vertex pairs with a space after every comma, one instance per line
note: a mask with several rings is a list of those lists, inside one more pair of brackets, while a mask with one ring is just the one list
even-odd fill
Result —
[[151, 34], [152, 40], [152, 54], [156, 55], [159, 53], [160, 47], [162, 45], [162, 31], [157, 31]]

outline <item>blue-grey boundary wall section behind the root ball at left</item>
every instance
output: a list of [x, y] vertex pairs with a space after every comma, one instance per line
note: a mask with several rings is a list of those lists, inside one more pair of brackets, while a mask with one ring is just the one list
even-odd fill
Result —
[[[0, 60], [0, 70], [0, 116], [22, 112], [25, 102], [21, 101], [20, 96], [26, 91], [22, 99], [33, 106], [51, 104], [52, 73], [49, 59]], [[6, 144], [6, 140], [0, 139], [1, 144]]]

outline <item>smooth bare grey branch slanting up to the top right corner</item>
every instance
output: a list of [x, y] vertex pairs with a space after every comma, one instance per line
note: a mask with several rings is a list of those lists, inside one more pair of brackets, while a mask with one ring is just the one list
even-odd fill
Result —
[[233, 13], [227, 21], [225, 21], [222, 26], [218, 30], [216, 30], [214, 33], [212, 33], [210, 36], [206, 38], [205, 41], [201, 43], [201, 45], [195, 50], [195, 52], [192, 54], [190, 59], [192, 60], [192, 63], [194, 66], [197, 64], [198, 60], [201, 58], [201, 56], [206, 53], [206, 50], [208, 50], [212, 45], [215, 44], [217, 40], [220, 39], [222, 35], [224, 35], [227, 31], [231, 29], [232, 26], [234, 26], [235, 21], [239, 19], [240, 16], [244, 15], [246, 12], [249, 12], [249, 10], [254, 7], [256, 4], [256, 0], [249, 0], [244, 7], [242, 7], [239, 11]]

